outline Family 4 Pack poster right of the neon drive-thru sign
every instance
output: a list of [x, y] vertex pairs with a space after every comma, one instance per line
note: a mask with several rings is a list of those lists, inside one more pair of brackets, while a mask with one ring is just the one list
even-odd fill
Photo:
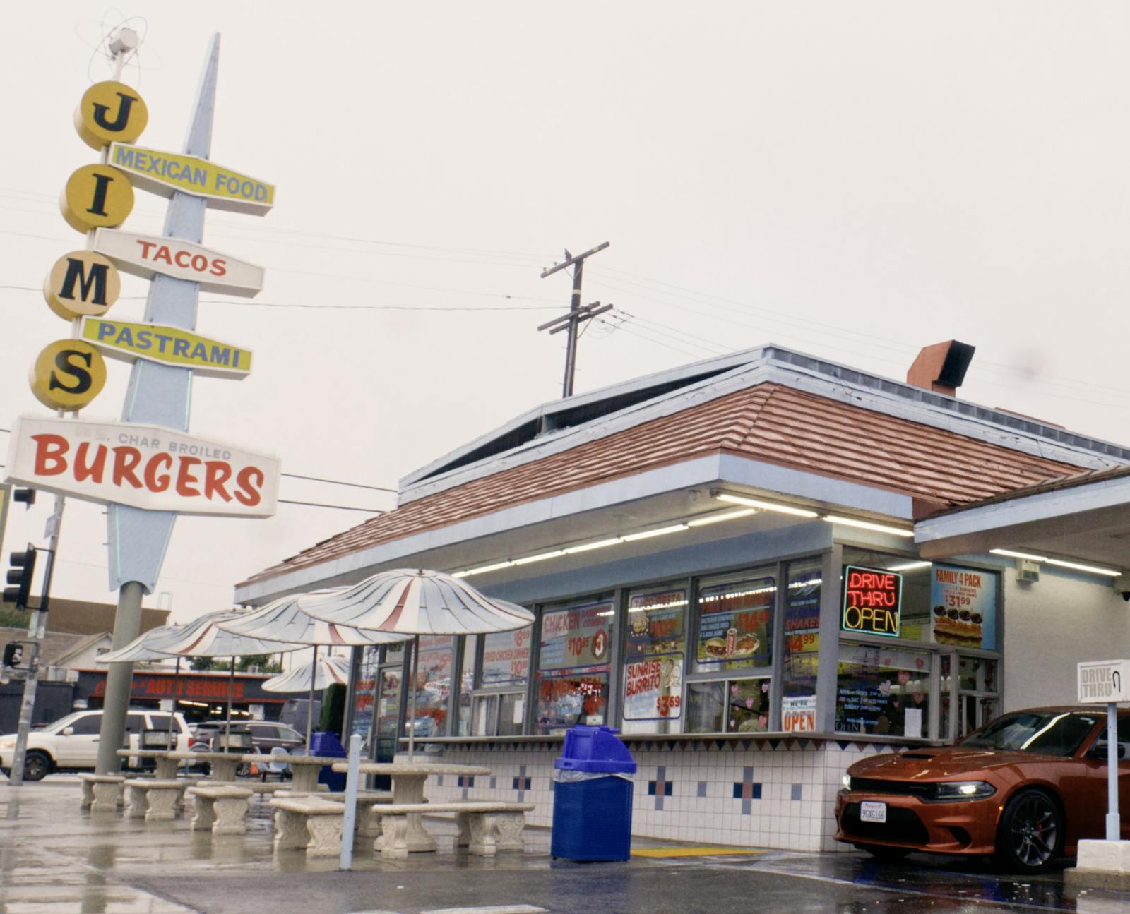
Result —
[[930, 632], [936, 644], [997, 650], [997, 575], [979, 568], [930, 568]]

